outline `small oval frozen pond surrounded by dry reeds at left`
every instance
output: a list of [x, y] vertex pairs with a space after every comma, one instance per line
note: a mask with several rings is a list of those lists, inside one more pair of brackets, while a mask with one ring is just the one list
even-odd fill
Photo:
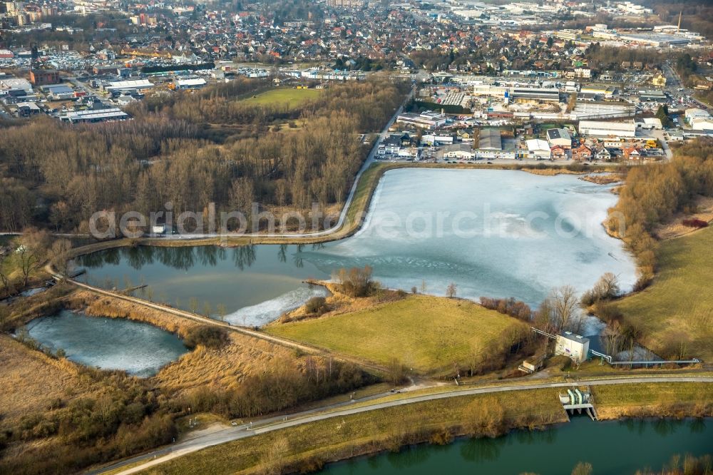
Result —
[[53, 351], [63, 349], [73, 362], [101, 369], [123, 369], [153, 376], [188, 352], [180, 338], [153, 325], [123, 318], [88, 317], [63, 310], [31, 321], [30, 337]]

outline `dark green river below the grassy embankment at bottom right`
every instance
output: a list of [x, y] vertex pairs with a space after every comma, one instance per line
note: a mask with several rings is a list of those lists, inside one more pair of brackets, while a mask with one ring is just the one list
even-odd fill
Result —
[[570, 475], [580, 461], [595, 475], [662, 469], [675, 454], [713, 454], [713, 419], [630, 419], [593, 422], [574, 417], [545, 431], [513, 431], [497, 439], [458, 439], [331, 464], [320, 474]]

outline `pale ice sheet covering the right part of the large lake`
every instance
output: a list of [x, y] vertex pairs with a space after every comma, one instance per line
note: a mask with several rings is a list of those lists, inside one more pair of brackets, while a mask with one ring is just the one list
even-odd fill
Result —
[[622, 290], [635, 263], [602, 221], [610, 187], [574, 175], [514, 170], [391, 170], [364, 228], [300, 254], [324, 272], [370, 265], [387, 287], [444, 295], [515, 297], [538, 305], [553, 287], [588, 290], [605, 272]]

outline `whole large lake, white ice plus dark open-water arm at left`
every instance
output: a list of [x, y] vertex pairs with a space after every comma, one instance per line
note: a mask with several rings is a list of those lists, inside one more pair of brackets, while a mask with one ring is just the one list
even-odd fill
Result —
[[[88, 282], [145, 282], [153, 300], [182, 308], [208, 302], [213, 316], [262, 325], [312, 295], [307, 277], [370, 265], [391, 288], [444, 295], [515, 297], [536, 306], [553, 287], [588, 290], [605, 272], [623, 290], [636, 280], [622, 242], [602, 228], [617, 197], [575, 175], [514, 170], [391, 170], [379, 183], [359, 233], [324, 245], [138, 247], [80, 257]], [[140, 294], [139, 294], [140, 296]]]

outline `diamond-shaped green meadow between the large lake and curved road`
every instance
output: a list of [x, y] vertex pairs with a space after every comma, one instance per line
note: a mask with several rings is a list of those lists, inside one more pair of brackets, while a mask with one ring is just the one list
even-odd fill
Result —
[[[409, 295], [368, 310], [272, 325], [267, 332], [379, 364], [433, 373], [484, 357], [525, 324], [464, 300]], [[503, 338], [506, 336], [506, 338]]]

